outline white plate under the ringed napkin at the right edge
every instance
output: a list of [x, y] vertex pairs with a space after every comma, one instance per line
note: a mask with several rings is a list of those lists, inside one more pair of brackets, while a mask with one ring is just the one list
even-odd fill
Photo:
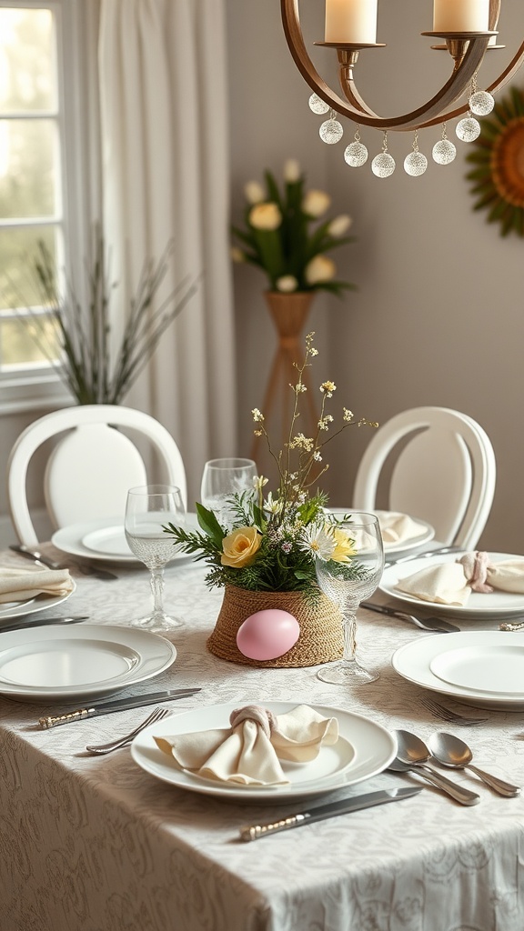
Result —
[[[458, 604], [440, 604], [437, 601], [424, 601], [412, 595], [407, 595], [395, 587], [400, 579], [407, 578], [408, 575], [414, 575], [421, 569], [429, 569], [431, 566], [437, 566], [443, 562], [454, 562], [463, 555], [463, 552], [441, 553], [425, 559], [409, 560], [396, 566], [390, 566], [389, 569], [384, 570], [379, 589], [385, 595], [404, 601], [406, 604], [416, 605], [417, 608], [432, 609], [440, 614], [452, 614], [456, 617], [462, 617], [464, 620], [467, 620], [467, 618], [475, 620], [484, 618], [488, 620], [493, 617], [513, 617], [515, 614], [524, 614], [524, 595], [516, 595], [512, 592], [492, 591], [489, 594], [480, 594], [474, 591], [466, 604], [460, 606]], [[491, 562], [522, 559], [521, 556], [508, 553], [489, 553], [488, 555]]]

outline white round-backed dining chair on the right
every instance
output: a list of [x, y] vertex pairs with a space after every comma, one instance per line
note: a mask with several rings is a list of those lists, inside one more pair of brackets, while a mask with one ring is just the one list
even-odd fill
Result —
[[[392, 467], [395, 447], [400, 452]], [[441, 543], [475, 548], [490, 516], [496, 465], [490, 438], [472, 417], [440, 407], [393, 416], [365, 449], [353, 507], [377, 506], [380, 474], [388, 467], [387, 509], [426, 520]]]

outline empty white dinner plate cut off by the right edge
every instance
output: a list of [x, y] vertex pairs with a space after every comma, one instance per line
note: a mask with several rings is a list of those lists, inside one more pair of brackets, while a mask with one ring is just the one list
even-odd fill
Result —
[[524, 631], [461, 630], [417, 638], [393, 654], [392, 665], [403, 679], [469, 705], [524, 708]]

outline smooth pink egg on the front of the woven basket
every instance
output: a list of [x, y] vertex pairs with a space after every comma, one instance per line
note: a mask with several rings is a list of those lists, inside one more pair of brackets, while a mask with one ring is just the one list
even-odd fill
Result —
[[249, 659], [276, 659], [291, 650], [299, 636], [296, 617], [271, 608], [246, 617], [237, 633], [237, 646]]

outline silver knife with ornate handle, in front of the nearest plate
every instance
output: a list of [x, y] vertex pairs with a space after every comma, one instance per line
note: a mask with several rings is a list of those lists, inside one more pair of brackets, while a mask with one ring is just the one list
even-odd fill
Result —
[[269, 824], [250, 825], [241, 828], [242, 841], [257, 841], [260, 837], [268, 837], [279, 830], [299, 828], [303, 824], [313, 824], [314, 821], [324, 821], [324, 818], [348, 815], [361, 808], [371, 808], [372, 805], [382, 805], [386, 802], [400, 802], [411, 795], [418, 795], [421, 788], [413, 786], [398, 786], [395, 789], [380, 789], [378, 792], [366, 792], [365, 795], [355, 795], [352, 799], [342, 799], [340, 802], [330, 802], [326, 805], [315, 805], [308, 811], [297, 812], [296, 815], [287, 815], [279, 821]]

